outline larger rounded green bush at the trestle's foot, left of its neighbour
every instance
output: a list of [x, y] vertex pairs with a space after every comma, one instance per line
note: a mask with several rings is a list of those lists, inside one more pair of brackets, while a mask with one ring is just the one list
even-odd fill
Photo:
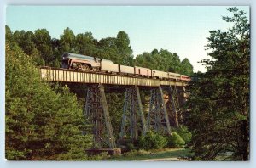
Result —
[[139, 137], [139, 148], [159, 149], [164, 148], [167, 144], [167, 138], [159, 133], [148, 131], [145, 136]]

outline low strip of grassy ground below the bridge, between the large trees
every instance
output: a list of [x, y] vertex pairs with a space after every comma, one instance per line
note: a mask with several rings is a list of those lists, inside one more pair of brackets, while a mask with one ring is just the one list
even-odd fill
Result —
[[193, 154], [187, 148], [164, 148], [160, 150], [150, 151], [132, 151], [129, 153], [109, 156], [105, 160], [150, 160], [150, 159], [163, 159], [163, 158], [181, 158], [191, 157]]

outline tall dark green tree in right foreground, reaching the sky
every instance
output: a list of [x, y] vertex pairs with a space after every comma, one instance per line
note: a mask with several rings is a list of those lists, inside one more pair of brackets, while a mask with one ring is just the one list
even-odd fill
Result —
[[205, 74], [190, 92], [187, 124], [192, 131], [195, 156], [215, 160], [231, 152], [232, 160], [249, 157], [249, 59], [250, 25], [245, 13], [228, 9], [223, 17], [233, 26], [229, 31], [210, 31], [207, 49], [212, 59], [204, 59]]

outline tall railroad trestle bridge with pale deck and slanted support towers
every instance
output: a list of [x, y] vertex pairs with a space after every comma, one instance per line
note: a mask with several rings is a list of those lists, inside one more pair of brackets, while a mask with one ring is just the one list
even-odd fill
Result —
[[[125, 92], [119, 140], [127, 137], [137, 139], [139, 135], [145, 135], [149, 129], [171, 134], [171, 120], [175, 126], [183, 121], [181, 107], [187, 98], [186, 81], [166, 81], [143, 76], [122, 76], [50, 67], [41, 67], [40, 74], [45, 81], [86, 85], [82, 88], [86, 89], [84, 115], [90, 121], [94, 141], [100, 147], [103, 144], [107, 144], [109, 148], [117, 146], [108, 111], [106, 89], [114, 92], [113, 88], [119, 86], [119, 92]], [[143, 109], [140, 94], [142, 90], [150, 92], [147, 109]]]

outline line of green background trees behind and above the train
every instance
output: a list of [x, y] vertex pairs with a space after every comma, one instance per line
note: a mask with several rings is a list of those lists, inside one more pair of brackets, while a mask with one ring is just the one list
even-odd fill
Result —
[[125, 31], [119, 31], [116, 37], [97, 41], [91, 32], [74, 35], [68, 27], [63, 31], [60, 39], [51, 39], [49, 31], [45, 29], [38, 29], [34, 33], [32, 31], [12, 33], [6, 26], [6, 39], [8, 42], [16, 42], [26, 54], [35, 59], [37, 65], [60, 67], [61, 54], [71, 52], [109, 59], [116, 64], [137, 65], [185, 75], [193, 73], [189, 59], [181, 61], [177, 53], [170, 53], [164, 49], [160, 51], [154, 49], [151, 53], [143, 53], [133, 59], [130, 38]]

